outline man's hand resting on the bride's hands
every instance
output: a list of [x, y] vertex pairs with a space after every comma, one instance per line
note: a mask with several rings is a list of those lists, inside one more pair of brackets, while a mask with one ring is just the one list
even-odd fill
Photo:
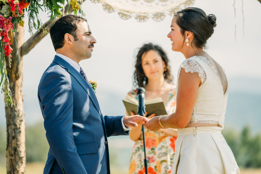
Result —
[[148, 118], [140, 116], [140, 115], [133, 115], [123, 118], [123, 124], [126, 127], [137, 127], [138, 124], [144, 124], [149, 121]]

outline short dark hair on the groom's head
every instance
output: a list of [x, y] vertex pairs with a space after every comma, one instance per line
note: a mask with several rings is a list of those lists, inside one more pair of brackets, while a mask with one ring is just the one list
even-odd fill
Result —
[[50, 35], [55, 51], [63, 47], [65, 42], [64, 35], [66, 33], [73, 35], [75, 41], [78, 40], [76, 35], [77, 24], [82, 21], [87, 22], [87, 19], [76, 15], [65, 15], [52, 23]]

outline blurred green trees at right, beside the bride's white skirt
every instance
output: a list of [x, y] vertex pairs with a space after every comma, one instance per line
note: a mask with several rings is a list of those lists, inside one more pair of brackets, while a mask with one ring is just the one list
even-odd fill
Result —
[[250, 127], [246, 126], [240, 134], [233, 130], [226, 130], [222, 134], [240, 167], [261, 167], [261, 133], [253, 136]]

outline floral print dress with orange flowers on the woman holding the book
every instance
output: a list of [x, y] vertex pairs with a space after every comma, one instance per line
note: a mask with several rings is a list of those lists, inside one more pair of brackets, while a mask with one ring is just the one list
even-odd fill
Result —
[[[138, 99], [137, 90], [130, 92], [131, 97]], [[165, 109], [168, 114], [176, 110], [176, 87], [169, 91]], [[175, 142], [177, 137], [170, 136], [160, 131], [145, 131], [146, 157], [148, 173], [170, 173], [175, 154]], [[133, 146], [129, 165], [129, 174], [145, 174], [143, 136]]]

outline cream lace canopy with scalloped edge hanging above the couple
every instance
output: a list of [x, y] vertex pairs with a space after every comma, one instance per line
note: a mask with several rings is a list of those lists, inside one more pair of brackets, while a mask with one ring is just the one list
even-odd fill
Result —
[[90, 0], [93, 3], [102, 3], [108, 13], [117, 12], [121, 19], [135, 17], [139, 22], [149, 18], [162, 21], [166, 15], [191, 7], [195, 0]]

